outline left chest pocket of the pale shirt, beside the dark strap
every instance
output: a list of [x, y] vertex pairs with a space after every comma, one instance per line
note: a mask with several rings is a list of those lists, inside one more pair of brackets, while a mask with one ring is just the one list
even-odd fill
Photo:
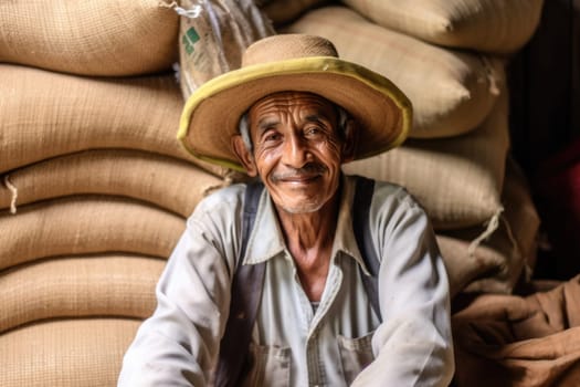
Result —
[[249, 373], [243, 387], [289, 387], [291, 348], [250, 344]]

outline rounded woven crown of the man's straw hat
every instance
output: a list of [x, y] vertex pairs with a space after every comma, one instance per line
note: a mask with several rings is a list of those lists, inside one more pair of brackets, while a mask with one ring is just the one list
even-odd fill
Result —
[[320, 36], [278, 34], [251, 44], [242, 56], [242, 67], [307, 56], [338, 57], [335, 45]]

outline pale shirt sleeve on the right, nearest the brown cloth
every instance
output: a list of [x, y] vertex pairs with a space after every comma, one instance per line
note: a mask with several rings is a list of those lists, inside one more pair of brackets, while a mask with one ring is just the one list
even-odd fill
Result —
[[[387, 199], [392, 195], [398, 199]], [[372, 338], [376, 358], [352, 386], [449, 386], [454, 373], [449, 282], [431, 223], [400, 188], [379, 188], [370, 221], [381, 257], [382, 323]]]

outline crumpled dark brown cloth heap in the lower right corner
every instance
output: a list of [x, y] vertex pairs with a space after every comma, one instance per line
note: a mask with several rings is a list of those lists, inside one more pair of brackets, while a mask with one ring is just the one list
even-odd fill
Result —
[[579, 385], [578, 275], [527, 296], [479, 295], [452, 322], [457, 387]]

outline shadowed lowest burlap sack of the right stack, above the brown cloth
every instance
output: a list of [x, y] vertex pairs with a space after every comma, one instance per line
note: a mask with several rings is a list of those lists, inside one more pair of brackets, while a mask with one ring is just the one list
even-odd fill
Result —
[[[437, 234], [451, 293], [483, 292], [510, 294], [518, 281], [530, 280], [536, 264], [540, 219], [528, 184], [519, 167], [508, 158], [497, 230], [453, 230]], [[493, 228], [489, 228], [493, 230]]]

